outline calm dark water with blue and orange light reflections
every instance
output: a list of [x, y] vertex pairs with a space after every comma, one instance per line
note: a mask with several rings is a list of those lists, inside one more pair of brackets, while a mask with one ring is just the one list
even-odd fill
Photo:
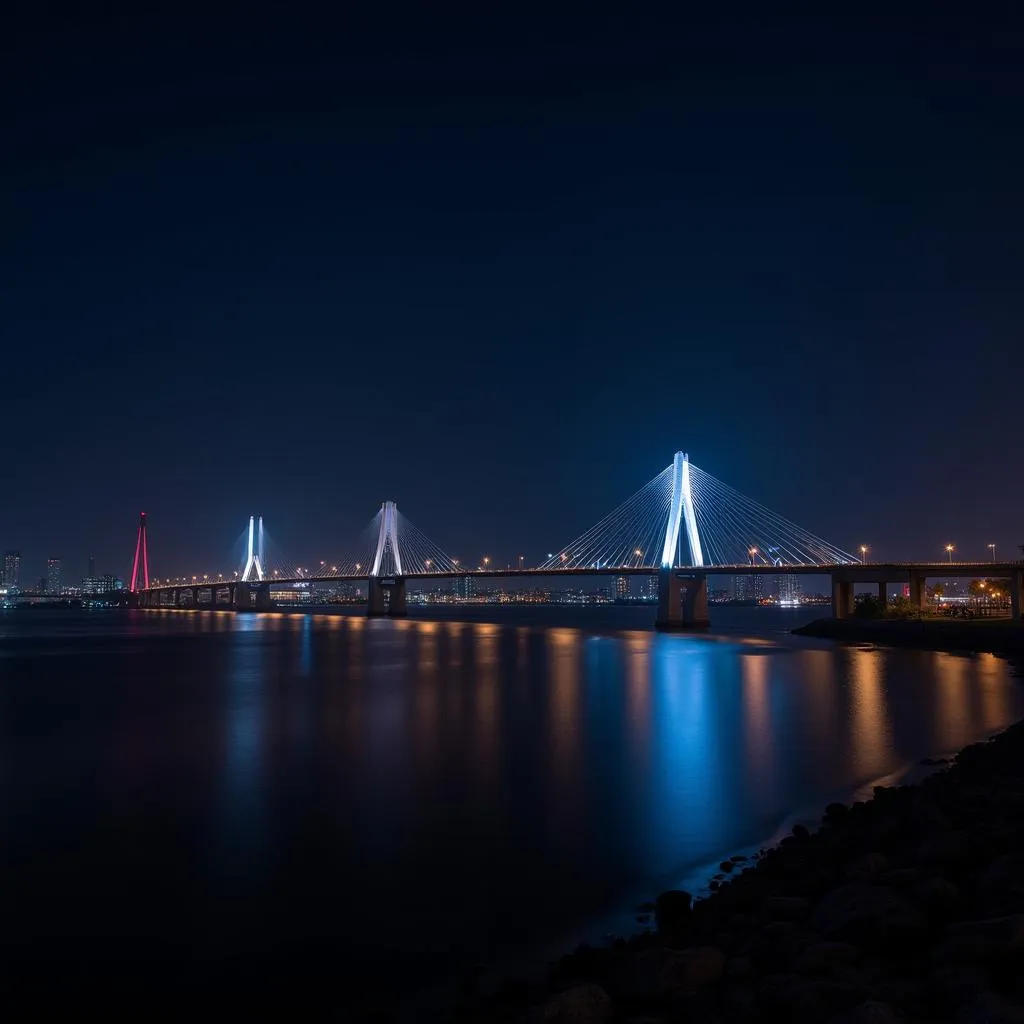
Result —
[[626, 927], [1024, 713], [994, 657], [788, 636], [806, 612], [460, 610], [0, 615], [8, 980], [387, 1000]]

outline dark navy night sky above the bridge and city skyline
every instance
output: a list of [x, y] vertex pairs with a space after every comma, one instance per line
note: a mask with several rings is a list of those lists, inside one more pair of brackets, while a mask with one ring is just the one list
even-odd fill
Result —
[[250, 512], [331, 558], [387, 498], [529, 563], [678, 449], [871, 557], [1024, 542], [1013, 5], [148, 7], [0, 35], [30, 580], [127, 575], [142, 509], [162, 574], [226, 566]]

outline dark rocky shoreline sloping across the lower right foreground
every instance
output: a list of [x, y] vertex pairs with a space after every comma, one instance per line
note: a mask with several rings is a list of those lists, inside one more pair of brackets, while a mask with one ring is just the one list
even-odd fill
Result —
[[467, 993], [452, 1020], [1024, 1021], [1024, 722], [722, 872], [708, 899], [643, 908], [643, 935]]

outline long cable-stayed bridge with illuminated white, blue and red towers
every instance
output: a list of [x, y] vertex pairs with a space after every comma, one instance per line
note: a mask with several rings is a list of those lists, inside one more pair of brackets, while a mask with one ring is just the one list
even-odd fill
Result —
[[[138, 569], [141, 566], [142, 575]], [[409, 581], [534, 579], [538, 577], [658, 577], [657, 626], [707, 626], [711, 575], [822, 575], [831, 578], [833, 612], [853, 610], [853, 589], [906, 585], [910, 601], [926, 605], [925, 581], [935, 577], [1009, 579], [1014, 618], [1021, 616], [1021, 562], [864, 562], [776, 515], [693, 466], [677, 453], [671, 466], [571, 544], [537, 566], [498, 569], [489, 559], [460, 566], [385, 502], [345, 557], [313, 570], [267, 558], [262, 517], [251, 516], [239, 569], [164, 581], [148, 577], [145, 517], [136, 540], [131, 590], [143, 607], [269, 609], [271, 588], [295, 584], [364, 584], [368, 613], [403, 615]], [[201, 600], [200, 598], [203, 598]]]

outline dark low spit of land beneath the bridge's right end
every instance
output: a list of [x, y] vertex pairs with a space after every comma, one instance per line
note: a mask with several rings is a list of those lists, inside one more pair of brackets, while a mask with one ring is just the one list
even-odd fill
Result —
[[1006, 618], [953, 620], [815, 618], [795, 636], [850, 643], [881, 643], [924, 650], [974, 651], [1024, 659], [1024, 627]]

